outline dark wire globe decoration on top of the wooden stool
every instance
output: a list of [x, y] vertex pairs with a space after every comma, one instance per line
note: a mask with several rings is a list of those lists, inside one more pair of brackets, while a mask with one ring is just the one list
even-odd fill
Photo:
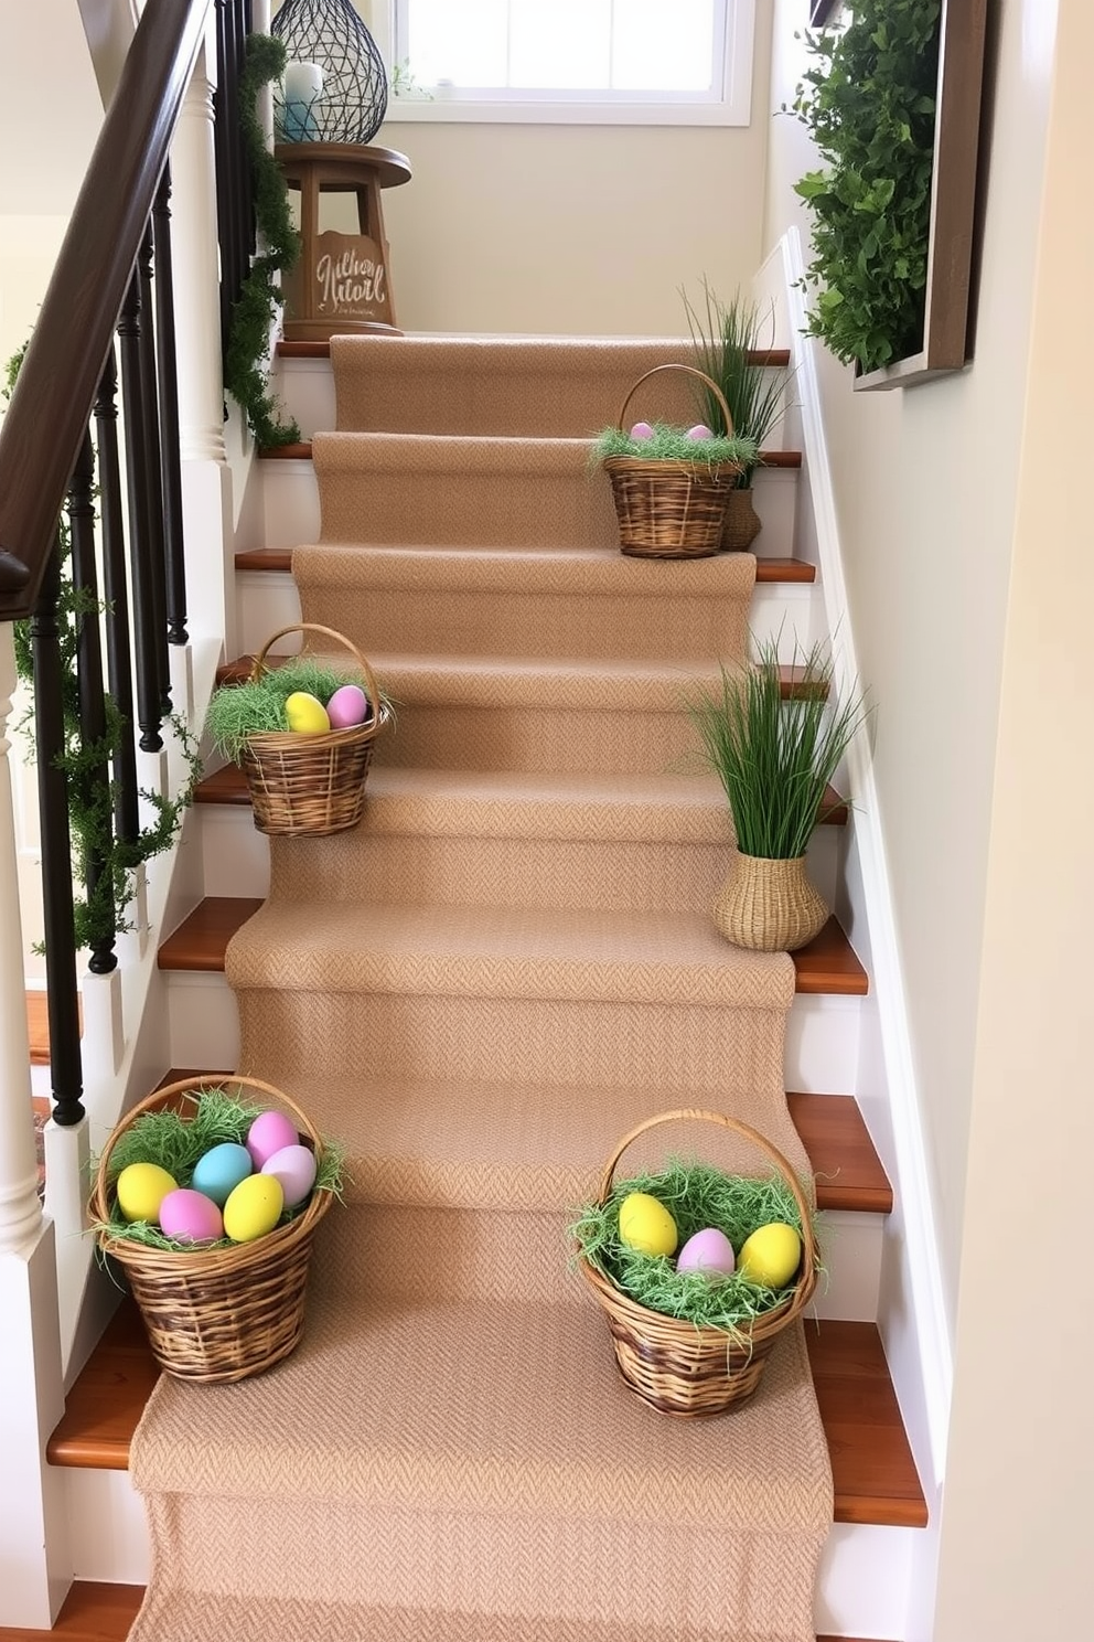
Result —
[[371, 143], [387, 113], [387, 69], [349, 0], [285, 0], [271, 23], [285, 44], [274, 85], [279, 143]]

